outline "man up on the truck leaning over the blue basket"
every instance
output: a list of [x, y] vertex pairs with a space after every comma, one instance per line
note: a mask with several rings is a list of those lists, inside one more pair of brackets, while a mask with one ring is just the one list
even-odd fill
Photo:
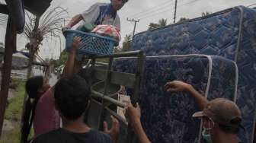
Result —
[[82, 14], [72, 17], [72, 20], [69, 21], [69, 24], [64, 29], [70, 29], [75, 24], [78, 24], [78, 22], [84, 20], [86, 23], [94, 25], [113, 25], [120, 30], [120, 18], [117, 11], [123, 8], [126, 2], [128, 0], [110, 0], [110, 3], [95, 3], [88, 10], [82, 12]]

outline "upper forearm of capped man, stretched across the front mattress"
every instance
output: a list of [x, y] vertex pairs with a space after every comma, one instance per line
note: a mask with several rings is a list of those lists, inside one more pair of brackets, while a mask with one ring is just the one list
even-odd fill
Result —
[[203, 108], [208, 103], [208, 100], [206, 99], [206, 97], [203, 97], [203, 95], [201, 95], [198, 91], [196, 91], [194, 87], [190, 84], [188, 84], [187, 86], [187, 91], [196, 99], [200, 110], [203, 110]]

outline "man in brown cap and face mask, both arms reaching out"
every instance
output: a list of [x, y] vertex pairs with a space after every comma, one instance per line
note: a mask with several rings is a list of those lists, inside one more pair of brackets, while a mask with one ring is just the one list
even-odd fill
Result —
[[[207, 143], [241, 142], [237, 134], [241, 129], [242, 114], [234, 102], [224, 98], [208, 101], [194, 87], [182, 81], [168, 82], [165, 84], [165, 90], [168, 92], [187, 91], [196, 99], [202, 111], [194, 113], [193, 117], [203, 119], [202, 137]], [[150, 143], [142, 129], [139, 105], [134, 107], [130, 103], [126, 107], [126, 117], [136, 132], [139, 142]]]

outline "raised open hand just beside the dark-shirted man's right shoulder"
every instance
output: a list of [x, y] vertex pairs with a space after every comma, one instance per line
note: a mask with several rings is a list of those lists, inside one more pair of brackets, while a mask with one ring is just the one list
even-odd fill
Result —
[[114, 116], [110, 116], [110, 118], [112, 120], [112, 127], [109, 130], [107, 127], [107, 122], [103, 122], [104, 133], [110, 135], [110, 138], [112, 138], [112, 140], [117, 143], [120, 125], [118, 120], [115, 119]]

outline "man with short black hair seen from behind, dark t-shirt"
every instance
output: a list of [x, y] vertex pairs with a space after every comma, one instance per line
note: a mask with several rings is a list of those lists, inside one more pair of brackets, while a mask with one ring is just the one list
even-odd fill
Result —
[[94, 131], [83, 122], [90, 95], [88, 83], [80, 76], [61, 78], [54, 88], [54, 102], [63, 128], [39, 135], [33, 142], [112, 143], [109, 135]]

